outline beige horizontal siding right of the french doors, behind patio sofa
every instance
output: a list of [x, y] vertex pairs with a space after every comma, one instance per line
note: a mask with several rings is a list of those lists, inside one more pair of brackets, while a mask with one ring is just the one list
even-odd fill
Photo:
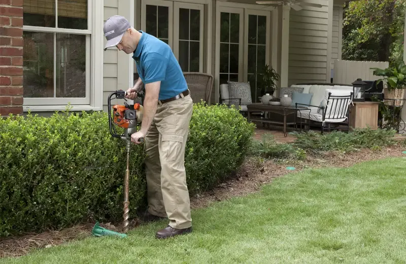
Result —
[[325, 82], [327, 79], [327, 62], [330, 61], [332, 52], [331, 44], [328, 45], [331, 39], [328, 36], [328, 15], [332, 1], [306, 2], [321, 4], [323, 7], [290, 10], [288, 85], [299, 82]]

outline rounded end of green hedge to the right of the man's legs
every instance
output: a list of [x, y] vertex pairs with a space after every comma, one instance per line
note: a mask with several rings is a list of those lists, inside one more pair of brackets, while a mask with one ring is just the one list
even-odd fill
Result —
[[254, 128], [234, 107], [195, 104], [185, 154], [189, 190], [207, 190], [238, 168]]

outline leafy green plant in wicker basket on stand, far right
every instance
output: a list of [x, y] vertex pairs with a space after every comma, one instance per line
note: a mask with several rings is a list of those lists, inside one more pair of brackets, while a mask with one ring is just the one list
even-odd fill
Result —
[[386, 99], [385, 104], [392, 106], [402, 106], [404, 98], [404, 89], [406, 88], [406, 65], [403, 61], [395, 66], [388, 67], [386, 69], [371, 68], [374, 70], [375, 76], [381, 76], [383, 78], [377, 81], [377, 84], [385, 81], [384, 94]]

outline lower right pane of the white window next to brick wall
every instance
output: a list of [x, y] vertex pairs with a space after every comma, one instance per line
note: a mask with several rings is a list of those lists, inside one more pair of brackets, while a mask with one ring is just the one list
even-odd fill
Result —
[[86, 96], [86, 36], [56, 34], [56, 97]]

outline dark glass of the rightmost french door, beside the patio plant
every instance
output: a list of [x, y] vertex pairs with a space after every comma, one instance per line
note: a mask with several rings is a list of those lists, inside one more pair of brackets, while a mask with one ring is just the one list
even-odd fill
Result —
[[261, 73], [265, 66], [266, 16], [248, 16], [248, 81], [251, 86], [252, 101], [258, 102], [266, 87], [261, 84]]

